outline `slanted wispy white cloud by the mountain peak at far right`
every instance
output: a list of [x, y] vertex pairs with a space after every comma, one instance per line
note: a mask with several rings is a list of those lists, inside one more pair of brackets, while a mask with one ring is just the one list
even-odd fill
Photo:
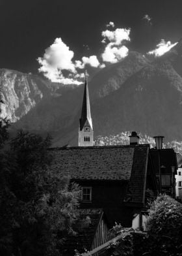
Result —
[[166, 42], [164, 39], [161, 39], [161, 42], [157, 44], [157, 48], [149, 51], [148, 54], [153, 54], [155, 57], [162, 56], [163, 54], [168, 52], [172, 47], [174, 47], [176, 44], [177, 42], [172, 44], [170, 41]]

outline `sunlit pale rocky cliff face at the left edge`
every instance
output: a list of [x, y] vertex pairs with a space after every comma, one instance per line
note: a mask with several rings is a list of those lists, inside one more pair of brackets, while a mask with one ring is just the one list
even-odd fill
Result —
[[12, 122], [27, 114], [51, 91], [48, 82], [32, 74], [0, 69], [1, 116]]

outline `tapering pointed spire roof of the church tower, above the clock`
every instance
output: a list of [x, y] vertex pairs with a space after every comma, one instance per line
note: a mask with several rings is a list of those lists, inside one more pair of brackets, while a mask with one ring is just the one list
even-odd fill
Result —
[[87, 75], [88, 74], [85, 71], [85, 89], [83, 94], [83, 105], [82, 105], [81, 118], [80, 118], [80, 130], [83, 129], [86, 120], [88, 120], [90, 127], [93, 129], [91, 112], [90, 112], [90, 99], [89, 99], [89, 93], [88, 93]]

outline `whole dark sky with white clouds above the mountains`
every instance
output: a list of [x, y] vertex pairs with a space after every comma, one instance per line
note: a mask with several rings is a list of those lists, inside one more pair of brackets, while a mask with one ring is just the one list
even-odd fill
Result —
[[0, 0], [0, 68], [81, 84], [130, 51], [160, 56], [182, 37], [181, 0]]

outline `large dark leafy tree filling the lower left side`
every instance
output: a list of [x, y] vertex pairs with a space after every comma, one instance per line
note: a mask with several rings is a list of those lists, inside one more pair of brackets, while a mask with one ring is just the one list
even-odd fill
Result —
[[61, 255], [78, 214], [79, 187], [49, 169], [49, 136], [19, 131], [7, 144], [7, 125], [1, 120], [0, 255]]

